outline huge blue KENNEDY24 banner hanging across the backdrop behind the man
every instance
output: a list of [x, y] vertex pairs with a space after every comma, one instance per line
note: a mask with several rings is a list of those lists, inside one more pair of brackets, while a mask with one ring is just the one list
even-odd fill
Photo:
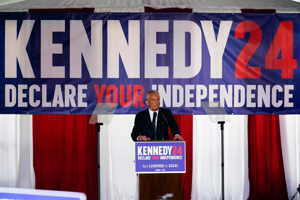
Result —
[[0, 113], [117, 114], [148, 90], [174, 114], [299, 114], [300, 16], [0, 13]]

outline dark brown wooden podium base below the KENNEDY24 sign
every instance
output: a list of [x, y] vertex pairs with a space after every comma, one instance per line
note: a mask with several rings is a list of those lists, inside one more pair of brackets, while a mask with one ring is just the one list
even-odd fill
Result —
[[172, 200], [181, 200], [181, 173], [138, 174], [138, 200], [156, 200], [172, 193]]

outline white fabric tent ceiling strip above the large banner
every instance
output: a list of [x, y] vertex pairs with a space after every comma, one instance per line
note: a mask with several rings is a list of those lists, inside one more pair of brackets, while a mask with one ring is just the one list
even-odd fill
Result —
[[[12, 2], [12, 3], [11, 3]], [[6, 3], [3, 5], [3, 3]], [[120, 8], [145, 6], [152, 8], [207, 9], [277, 9], [297, 10], [300, 3], [292, 0], [4, 0], [0, 9], [28, 8]]]

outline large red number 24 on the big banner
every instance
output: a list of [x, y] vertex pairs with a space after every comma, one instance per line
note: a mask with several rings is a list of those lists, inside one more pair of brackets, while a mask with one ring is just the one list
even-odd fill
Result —
[[[249, 32], [250, 38], [235, 63], [235, 78], [260, 78], [261, 67], [247, 67], [252, 55], [257, 50], [262, 31], [252, 21], [243, 21], [235, 29], [235, 38], [245, 38]], [[281, 59], [277, 59], [281, 50]], [[281, 78], [293, 78], [293, 69], [297, 69], [297, 60], [293, 59], [293, 23], [282, 21], [266, 55], [266, 69], [281, 69]]]

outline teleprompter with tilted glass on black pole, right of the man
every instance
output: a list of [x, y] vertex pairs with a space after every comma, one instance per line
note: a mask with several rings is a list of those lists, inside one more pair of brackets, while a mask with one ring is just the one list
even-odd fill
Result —
[[213, 123], [220, 124], [221, 127], [221, 154], [222, 154], [222, 200], [224, 200], [224, 124], [225, 122], [230, 122], [227, 113], [218, 101], [206, 101], [202, 102], [208, 117]]

